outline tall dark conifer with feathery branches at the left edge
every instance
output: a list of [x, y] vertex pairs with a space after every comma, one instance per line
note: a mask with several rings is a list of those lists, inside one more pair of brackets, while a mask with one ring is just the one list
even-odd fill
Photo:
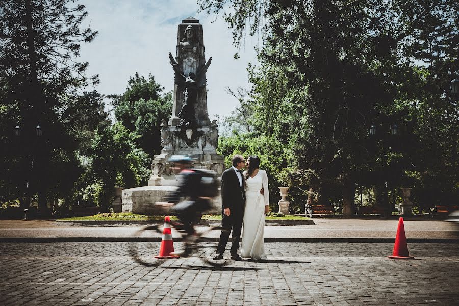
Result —
[[[14, 126], [20, 126], [20, 143], [7, 141], [11, 166], [19, 166], [13, 182], [19, 197], [38, 194], [42, 213], [47, 212], [47, 192], [54, 185], [50, 163], [62, 155], [71, 159], [75, 148], [63, 112], [82, 88], [98, 82], [97, 76], [86, 78], [87, 62], [75, 61], [80, 43], [91, 42], [97, 32], [81, 30], [88, 13], [83, 5], [73, 5], [72, 0], [0, 3], [0, 104], [6, 106], [4, 114], [14, 118], [3, 138], [9, 139]], [[35, 136], [37, 125], [43, 131], [40, 139]]]

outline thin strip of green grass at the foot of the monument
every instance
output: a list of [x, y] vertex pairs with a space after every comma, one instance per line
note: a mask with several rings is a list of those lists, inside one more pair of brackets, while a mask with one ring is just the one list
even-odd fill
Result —
[[[172, 220], [177, 220], [177, 217], [171, 216]], [[203, 215], [202, 219], [205, 220], [221, 220], [221, 215]], [[147, 216], [147, 215], [138, 215], [133, 213], [100, 213], [93, 216], [86, 217], [71, 217], [71, 218], [62, 218], [57, 219], [58, 221], [145, 221], [145, 220], [164, 220], [164, 216]], [[266, 217], [266, 220], [309, 220], [302, 216], [275, 216], [275, 214], [270, 213]]]

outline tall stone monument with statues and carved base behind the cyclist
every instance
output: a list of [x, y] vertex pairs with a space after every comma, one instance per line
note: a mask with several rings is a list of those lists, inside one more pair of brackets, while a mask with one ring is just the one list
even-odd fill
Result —
[[[218, 126], [210, 122], [207, 112], [206, 72], [212, 58], [206, 61], [202, 24], [187, 18], [179, 24], [175, 57], [169, 53], [174, 73], [174, 100], [172, 116], [163, 119], [161, 154], [155, 155], [151, 165], [148, 186], [122, 191], [123, 212], [156, 214], [155, 202], [162, 201], [167, 192], [175, 189], [177, 180], [169, 158], [175, 154], [194, 158], [193, 168], [213, 170], [220, 177], [224, 171], [224, 158], [216, 152]], [[210, 213], [221, 212], [221, 199], [214, 199]]]

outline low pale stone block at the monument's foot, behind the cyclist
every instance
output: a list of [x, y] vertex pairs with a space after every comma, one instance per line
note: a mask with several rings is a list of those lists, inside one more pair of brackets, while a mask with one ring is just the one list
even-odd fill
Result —
[[[176, 182], [176, 180], [171, 180]], [[175, 186], [143, 186], [123, 189], [121, 195], [122, 211], [142, 215], [163, 215], [167, 213], [156, 202], [163, 202], [165, 195], [175, 190]], [[221, 198], [215, 197], [209, 214], [221, 214]]]

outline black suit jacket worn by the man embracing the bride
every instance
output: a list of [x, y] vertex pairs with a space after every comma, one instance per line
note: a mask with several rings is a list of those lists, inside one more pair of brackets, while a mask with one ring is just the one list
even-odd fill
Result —
[[231, 213], [244, 211], [245, 204], [245, 180], [242, 175], [242, 187], [233, 167], [226, 169], [221, 176], [221, 202], [223, 209], [229, 208]]

